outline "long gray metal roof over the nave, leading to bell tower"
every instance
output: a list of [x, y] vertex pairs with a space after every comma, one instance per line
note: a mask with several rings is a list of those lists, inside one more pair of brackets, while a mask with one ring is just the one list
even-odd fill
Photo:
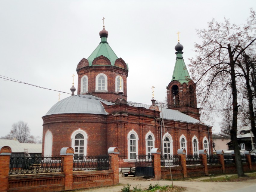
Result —
[[[131, 101], [127, 101], [127, 104], [134, 106], [134, 107], [144, 107], [147, 109], [149, 109], [149, 107], [151, 106], [151, 105], [139, 104], [139, 103], [135, 103], [135, 102], [131, 102]], [[159, 109], [159, 110], [161, 110], [161, 109]], [[184, 113], [181, 113], [180, 111], [173, 110], [173, 109], [167, 109], [167, 108], [162, 108], [162, 110], [163, 110], [164, 119], [181, 121], [181, 122], [189, 122], [189, 123], [201, 123], [197, 119], [195, 119], [191, 116], [188, 116]], [[160, 117], [162, 118], [162, 113], [160, 113]], [[201, 124], [203, 124], [203, 123], [201, 123]]]

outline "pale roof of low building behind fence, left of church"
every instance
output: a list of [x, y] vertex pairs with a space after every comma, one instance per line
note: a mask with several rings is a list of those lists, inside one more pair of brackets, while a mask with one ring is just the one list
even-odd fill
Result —
[[24, 153], [24, 149], [27, 149], [28, 153], [42, 153], [42, 144], [38, 143], [20, 143], [18, 140], [0, 139], [0, 146], [11, 147], [12, 153]]

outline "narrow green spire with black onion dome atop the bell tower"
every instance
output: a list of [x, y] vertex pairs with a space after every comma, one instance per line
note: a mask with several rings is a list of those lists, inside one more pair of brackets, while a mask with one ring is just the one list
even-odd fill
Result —
[[175, 46], [175, 50], [177, 52], [175, 53], [176, 62], [173, 70], [172, 81], [176, 80], [179, 81], [181, 84], [183, 84], [184, 82], [188, 83], [190, 80], [190, 76], [182, 56], [183, 45], [178, 42], [178, 44]]

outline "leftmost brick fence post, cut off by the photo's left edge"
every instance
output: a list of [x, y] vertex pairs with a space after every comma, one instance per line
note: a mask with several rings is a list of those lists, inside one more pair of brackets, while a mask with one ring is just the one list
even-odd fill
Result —
[[11, 147], [0, 146], [0, 191], [8, 190]]

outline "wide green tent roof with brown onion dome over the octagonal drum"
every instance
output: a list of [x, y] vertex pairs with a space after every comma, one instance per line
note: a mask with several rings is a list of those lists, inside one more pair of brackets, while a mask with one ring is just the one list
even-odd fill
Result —
[[115, 65], [115, 61], [118, 59], [117, 55], [114, 53], [114, 51], [111, 49], [111, 47], [108, 45], [107, 38], [108, 38], [108, 31], [105, 30], [105, 28], [100, 31], [100, 37], [101, 42], [98, 45], [98, 47], [92, 52], [92, 54], [88, 57], [89, 66], [92, 66], [92, 61], [101, 55], [104, 57], [107, 57], [111, 65]]

